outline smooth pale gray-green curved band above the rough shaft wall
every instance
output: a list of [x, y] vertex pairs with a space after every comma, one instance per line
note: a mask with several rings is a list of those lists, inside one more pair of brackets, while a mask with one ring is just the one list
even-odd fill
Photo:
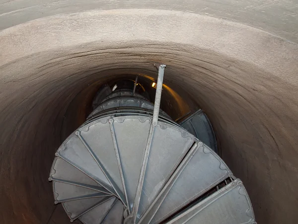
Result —
[[83, 10], [153, 8], [241, 22], [298, 43], [298, 0], [0, 0], [0, 29]]

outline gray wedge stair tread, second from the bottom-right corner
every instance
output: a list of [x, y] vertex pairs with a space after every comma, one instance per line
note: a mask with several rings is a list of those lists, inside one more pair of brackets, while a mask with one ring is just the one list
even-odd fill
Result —
[[223, 160], [208, 146], [202, 144], [181, 173], [175, 177], [175, 182], [151, 223], [159, 223], [171, 216], [229, 176], [232, 176], [232, 173]]

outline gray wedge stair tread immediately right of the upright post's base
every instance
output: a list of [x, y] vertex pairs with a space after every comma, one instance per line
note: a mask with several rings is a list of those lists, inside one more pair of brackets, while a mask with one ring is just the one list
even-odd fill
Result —
[[163, 122], [158, 122], [155, 126], [136, 222], [152, 203], [193, 143], [193, 135], [182, 128], [178, 129]]

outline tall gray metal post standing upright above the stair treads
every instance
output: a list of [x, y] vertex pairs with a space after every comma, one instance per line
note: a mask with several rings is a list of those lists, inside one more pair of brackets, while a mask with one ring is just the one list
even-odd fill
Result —
[[161, 100], [161, 91], [162, 91], [162, 82], [163, 82], [163, 74], [164, 74], [165, 66], [166, 65], [162, 64], [162, 65], [159, 65], [159, 67], [158, 67], [158, 78], [157, 78], [157, 86], [156, 86], [154, 110], [153, 110], [153, 119], [152, 119], [152, 125], [153, 126], [156, 126], [157, 121], [158, 121], [160, 100]]

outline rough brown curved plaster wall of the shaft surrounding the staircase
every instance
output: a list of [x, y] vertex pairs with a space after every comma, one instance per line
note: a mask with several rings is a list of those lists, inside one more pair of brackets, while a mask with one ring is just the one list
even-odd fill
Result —
[[[84, 120], [94, 83], [128, 72], [156, 77], [154, 61], [167, 65], [166, 85], [187, 90], [209, 115], [257, 222], [297, 223], [297, 44], [207, 15], [116, 9], [12, 26], [0, 32], [0, 49], [2, 223], [63, 216], [59, 208], [51, 216], [47, 181], [62, 127]], [[77, 110], [65, 119], [72, 102]]]

